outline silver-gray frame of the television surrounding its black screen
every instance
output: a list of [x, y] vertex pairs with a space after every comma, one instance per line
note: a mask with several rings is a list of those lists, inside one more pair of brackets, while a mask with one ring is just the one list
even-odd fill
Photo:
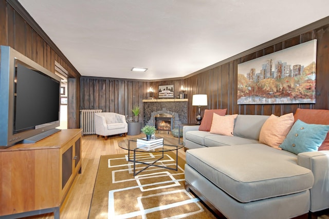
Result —
[[[61, 78], [58, 75], [50, 72], [11, 47], [1, 46], [0, 99], [2, 99], [2, 104], [0, 105], [0, 148], [12, 146], [23, 140], [27, 140], [30, 137], [46, 133], [60, 126], [60, 121], [58, 120], [53, 121], [47, 126], [40, 126], [40, 128], [13, 133], [15, 65], [17, 65], [17, 63], [32, 70], [42, 72], [58, 81], [60, 92]], [[58, 102], [60, 103], [60, 98], [58, 99]], [[60, 104], [58, 111], [60, 118]]]

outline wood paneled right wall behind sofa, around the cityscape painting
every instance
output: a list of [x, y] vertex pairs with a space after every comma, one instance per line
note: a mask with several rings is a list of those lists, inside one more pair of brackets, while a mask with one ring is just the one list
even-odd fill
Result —
[[[328, 21], [329, 19], [326, 19]], [[291, 35], [291, 34], [290, 34]], [[237, 65], [282, 49], [317, 39], [317, 73], [315, 104], [263, 104], [237, 105]], [[297, 108], [329, 109], [329, 22], [319, 28], [309, 29], [279, 43], [214, 66], [185, 79], [188, 96], [208, 94], [204, 109], [227, 108], [228, 114], [283, 115]], [[189, 122], [195, 121], [196, 107], [189, 104]]]

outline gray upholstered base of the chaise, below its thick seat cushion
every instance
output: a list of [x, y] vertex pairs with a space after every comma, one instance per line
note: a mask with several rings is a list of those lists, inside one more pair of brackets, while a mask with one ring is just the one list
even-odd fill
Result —
[[293, 218], [308, 212], [309, 190], [297, 194], [267, 198], [257, 202], [241, 203], [235, 201], [223, 190], [218, 189], [206, 177], [200, 175], [190, 166], [185, 167], [185, 179], [188, 191], [193, 191], [214, 212], [218, 215], [225, 215], [227, 218]]

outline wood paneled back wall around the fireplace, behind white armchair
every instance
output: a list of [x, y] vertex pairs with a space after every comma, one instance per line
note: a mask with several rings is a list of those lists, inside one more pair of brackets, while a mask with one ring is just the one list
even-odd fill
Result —
[[154, 89], [154, 97], [158, 98], [157, 90], [160, 85], [174, 85], [175, 95], [179, 95], [183, 79], [167, 80], [161, 82], [136, 81], [119, 78], [80, 78], [80, 109], [102, 109], [103, 112], [116, 112], [132, 116], [132, 108], [140, 108], [139, 120], [143, 118], [142, 99], [149, 97], [148, 90]]

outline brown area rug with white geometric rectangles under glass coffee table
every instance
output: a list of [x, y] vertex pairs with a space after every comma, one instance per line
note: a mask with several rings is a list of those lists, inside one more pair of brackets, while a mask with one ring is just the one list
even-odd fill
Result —
[[[136, 158], [145, 162], [161, 155], [143, 152]], [[134, 176], [127, 156], [101, 156], [88, 218], [216, 218], [185, 190], [184, 160], [178, 157], [177, 171], [151, 166]], [[156, 164], [175, 168], [175, 158], [167, 152]], [[144, 167], [136, 164], [136, 172]]]

